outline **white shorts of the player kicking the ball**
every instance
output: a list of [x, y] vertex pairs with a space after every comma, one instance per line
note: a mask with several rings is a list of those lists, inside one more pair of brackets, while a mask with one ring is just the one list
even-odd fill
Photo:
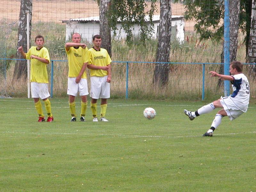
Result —
[[236, 119], [244, 113], [236, 106], [236, 104], [229, 97], [221, 97], [220, 99], [220, 104], [226, 111], [230, 121]]

